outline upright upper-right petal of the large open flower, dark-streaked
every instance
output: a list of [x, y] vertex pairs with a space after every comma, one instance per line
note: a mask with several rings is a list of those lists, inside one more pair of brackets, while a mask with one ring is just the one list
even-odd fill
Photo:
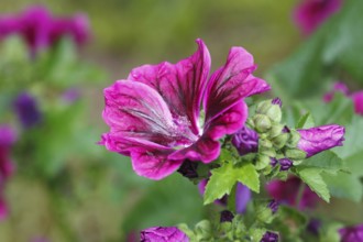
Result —
[[270, 90], [270, 85], [251, 74], [255, 70], [253, 56], [242, 47], [232, 47], [227, 63], [210, 77], [204, 107], [206, 123], [234, 106], [241, 99]]

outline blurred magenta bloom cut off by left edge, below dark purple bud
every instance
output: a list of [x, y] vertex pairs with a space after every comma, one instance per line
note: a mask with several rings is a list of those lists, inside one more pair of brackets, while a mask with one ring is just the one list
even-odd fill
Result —
[[10, 152], [15, 141], [15, 132], [8, 125], [0, 125], [0, 220], [8, 215], [3, 189], [14, 169]]

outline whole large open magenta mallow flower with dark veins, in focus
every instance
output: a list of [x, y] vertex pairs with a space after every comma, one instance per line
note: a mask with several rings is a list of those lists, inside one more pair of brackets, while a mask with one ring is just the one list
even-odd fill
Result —
[[141, 176], [162, 179], [187, 158], [215, 161], [218, 140], [244, 125], [243, 99], [270, 90], [252, 75], [253, 56], [242, 47], [232, 47], [226, 65], [208, 78], [210, 55], [201, 40], [197, 43], [190, 57], [138, 67], [105, 89], [102, 116], [110, 132], [100, 144], [131, 156]]

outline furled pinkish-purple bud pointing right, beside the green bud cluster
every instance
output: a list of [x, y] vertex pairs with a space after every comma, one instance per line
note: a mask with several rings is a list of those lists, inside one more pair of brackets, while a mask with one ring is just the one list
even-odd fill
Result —
[[307, 153], [307, 157], [316, 155], [322, 151], [342, 146], [344, 141], [344, 127], [328, 124], [306, 130], [298, 130], [300, 140], [297, 147]]

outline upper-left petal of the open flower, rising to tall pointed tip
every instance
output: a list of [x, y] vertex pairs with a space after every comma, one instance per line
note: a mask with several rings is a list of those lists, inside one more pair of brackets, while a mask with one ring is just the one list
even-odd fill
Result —
[[144, 65], [133, 69], [129, 79], [146, 84], [157, 90], [168, 105], [174, 117], [186, 117], [190, 130], [199, 133], [198, 118], [202, 91], [210, 69], [210, 55], [201, 40], [190, 57], [173, 65]]

